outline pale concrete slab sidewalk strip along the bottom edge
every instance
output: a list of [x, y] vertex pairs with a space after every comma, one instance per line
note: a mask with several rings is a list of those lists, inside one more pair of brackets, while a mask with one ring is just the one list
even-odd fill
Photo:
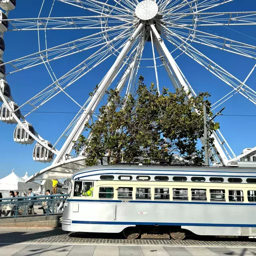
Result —
[[68, 244], [0, 245], [0, 256], [255, 256], [256, 248], [113, 246]]

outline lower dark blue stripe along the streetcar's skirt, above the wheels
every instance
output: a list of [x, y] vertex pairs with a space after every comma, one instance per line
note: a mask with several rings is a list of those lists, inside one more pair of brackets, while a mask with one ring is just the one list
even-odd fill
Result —
[[72, 220], [72, 224], [101, 225], [158, 225], [158, 226], [205, 226], [205, 227], [256, 227], [256, 224], [221, 224], [221, 223], [170, 223], [170, 222], [118, 222], [118, 221], [84, 221]]

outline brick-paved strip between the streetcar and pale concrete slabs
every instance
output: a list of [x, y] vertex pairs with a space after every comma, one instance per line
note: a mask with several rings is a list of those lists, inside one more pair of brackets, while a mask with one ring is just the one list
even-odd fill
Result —
[[[110, 236], [108, 238], [108, 236]], [[21, 230], [9, 228], [0, 230], [0, 243], [63, 243], [63, 244], [120, 244], [120, 245], [161, 245], [161, 246], [241, 246], [256, 247], [253, 239], [220, 239], [214, 237], [198, 237], [186, 240], [127, 240], [122, 239], [120, 234], [66, 234], [61, 229], [47, 230]], [[255, 254], [256, 255], [256, 254]]]

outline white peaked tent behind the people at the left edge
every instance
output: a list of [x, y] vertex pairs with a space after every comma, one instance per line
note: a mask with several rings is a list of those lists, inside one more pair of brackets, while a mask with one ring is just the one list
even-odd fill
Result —
[[12, 170], [12, 173], [8, 176], [0, 179], [0, 190], [22, 190], [27, 191], [29, 188], [32, 188], [32, 190], [37, 190], [40, 186], [40, 184], [36, 184], [35, 182], [28, 182], [25, 183], [25, 179], [28, 177], [27, 173], [24, 177], [20, 178], [18, 175], [14, 173], [14, 169]]

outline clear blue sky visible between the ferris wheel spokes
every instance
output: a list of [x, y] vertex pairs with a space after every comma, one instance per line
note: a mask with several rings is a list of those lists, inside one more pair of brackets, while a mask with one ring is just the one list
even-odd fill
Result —
[[[46, 0], [45, 2], [46, 5], [42, 10], [41, 17], [48, 15], [52, 0]], [[18, 0], [17, 7], [14, 11], [10, 12], [9, 18], [37, 17], [41, 4], [42, 0]], [[255, 10], [255, 0], [234, 0], [233, 2], [224, 4], [220, 8], [211, 9], [210, 11], [230, 12]], [[80, 8], [72, 7], [58, 1], [56, 1], [52, 12], [52, 16], [54, 17], [82, 16], [87, 14], [88, 13], [84, 12]], [[218, 33], [221, 36], [256, 45], [256, 26], [240, 26], [239, 28], [232, 27], [232, 29], [237, 31], [225, 27], [215, 27], [210, 29], [212, 32]], [[48, 47], [69, 42], [76, 38], [81, 38], [88, 33], [88, 30], [49, 31], [47, 33]], [[41, 36], [43, 36], [43, 34], [41, 34]], [[38, 38], [36, 31], [7, 32], [4, 36], [4, 40], [6, 43], [4, 61], [13, 60], [38, 51]], [[170, 43], [166, 42], [166, 45], [168, 48], [172, 49]], [[199, 47], [195, 44], [194, 46], [197, 47], [198, 50], [204, 52], [208, 57], [212, 58], [215, 62], [226, 68], [226, 70], [234, 74], [240, 80], [244, 80], [246, 78], [247, 74], [255, 64], [255, 60], [249, 58], [220, 50], [214, 50], [204, 46]], [[56, 76], [60, 77], [65, 74], [67, 70], [80, 63], [87, 54], [88, 53], [76, 54], [67, 59], [63, 58], [56, 62], [52, 62], [51, 65]], [[151, 54], [150, 56], [152, 56], [150, 44], [146, 45], [144, 56], [146, 56], [146, 54]], [[107, 62], [90, 72], [88, 76], [84, 76], [81, 80], [76, 82], [76, 84], [70, 86], [67, 92], [82, 105], [88, 98], [88, 93], [91, 92], [92, 88], [104, 77], [113, 61], [114, 59], [110, 58]], [[230, 91], [230, 87], [224, 84], [224, 82], [210, 74], [210, 72], [199, 66], [188, 56], [185, 56], [185, 54], [177, 58], [176, 61], [196, 91], [208, 91], [212, 94], [210, 99], [211, 102], [215, 102]], [[10, 71], [9, 66], [6, 66], [6, 69], [7, 72], [8, 70]], [[146, 82], [148, 84], [151, 81], [155, 81], [154, 70], [152, 68], [142, 68], [139, 70], [139, 74], [146, 77]], [[173, 90], [163, 68], [159, 68], [158, 76], [160, 87], [166, 86]], [[254, 90], [256, 90], [255, 79], [256, 72], [254, 72], [247, 82], [248, 86]], [[22, 72], [16, 72], [15, 74], [7, 76], [7, 80], [12, 90], [12, 96], [18, 105], [21, 105], [51, 83], [48, 72], [43, 65]], [[226, 107], [223, 112], [223, 114], [226, 115], [256, 115], [256, 106], [238, 94], [232, 97], [228, 102], [225, 102], [223, 106]], [[218, 110], [221, 108], [222, 106]], [[26, 110], [30, 110], [30, 108], [23, 108], [22, 111], [26, 112]], [[78, 110], [78, 106], [74, 104], [74, 102], [70, 101], [67, 96], [59, 94], [38, 111], [77, 112]], [[27, 121], [33, 124], [35, 130], [44, 139], [50, 140], [54, 143], [73, 117], [74, 114], [33, 113], [28, 116]], [[246, 147], [256, 146], [256, 139], [254, 135], [256, 117], [220, 116], [216, 118], [216, 121], [220, 122], [222, 134], [229, 142], [236, 155], [240, 154]], [[28, 171], [29, 175], [32, 175], [34, 172], [37, 172], [47, 166], [47, 164], [37, 163], [32, 160], [32, 150], [35, 144], [25, 146], [14, 142], [13, 131], [15, 126], [16, 125], [0, 123], [0, 178], [9, 174], [12, 168], [14, 168], [16, 174], [23, 176], [26, 171]], [[58, 145], [57, 149], [60, 149], [60, 146], [61, 144]]]

